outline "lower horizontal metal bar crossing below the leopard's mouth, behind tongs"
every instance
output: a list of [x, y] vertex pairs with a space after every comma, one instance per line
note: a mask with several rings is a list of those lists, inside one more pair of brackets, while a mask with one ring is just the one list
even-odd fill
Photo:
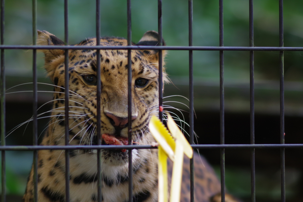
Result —
[[[303, 144], [194, 144], [194, 149], [265, 149], [265, 148], [303, 148]], [[27, 151], [27, 150], [64, 150], [64, 149], [157, 149], [151, 145], [28, 145], [28, 146], [0, 146], [1, 150], [7, 151]]]

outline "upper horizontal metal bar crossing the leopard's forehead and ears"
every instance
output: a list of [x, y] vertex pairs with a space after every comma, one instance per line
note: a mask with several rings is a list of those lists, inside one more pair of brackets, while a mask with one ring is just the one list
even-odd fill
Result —
[[303, 51], [303, 47], [234, 46], [73, 46], [73, 45], [0, 45], [0, 49], [74, 49], [74, 50], [193, 50], [193, 51]]

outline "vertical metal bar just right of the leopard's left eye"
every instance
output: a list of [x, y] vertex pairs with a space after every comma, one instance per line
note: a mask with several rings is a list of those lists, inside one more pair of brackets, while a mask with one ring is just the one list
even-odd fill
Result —
[[[100, 45], [100, 0], [96, 0], [96, 45]], [[97, 51], [97, 144], [101, 145], [101, 68], [100, 50]], [[98, 202], [102, 201], [101, 192], [101, 150], [97, 150], [97, 183], [98, 183]]]

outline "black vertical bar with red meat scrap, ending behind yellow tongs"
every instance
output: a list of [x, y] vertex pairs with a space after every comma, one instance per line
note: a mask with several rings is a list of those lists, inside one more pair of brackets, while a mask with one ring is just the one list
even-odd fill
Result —
[[[163, 45], [162, 39], [163, 39], [162, 38], [162, 0], [158, 0], [158, 46]], [[159, 50], [158, 66], [159, 66], [159, 119], [160, 121], [162, 121], [162, 110], [161, 110], [162, 102], [163, 102], [162, 50]]]

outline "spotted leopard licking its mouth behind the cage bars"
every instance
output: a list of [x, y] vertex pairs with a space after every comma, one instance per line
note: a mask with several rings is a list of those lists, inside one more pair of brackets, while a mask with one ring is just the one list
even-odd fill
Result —
[[[37, 31], [37, 44], [59, 46], [65, 43], [48, 31]], [[147, 31], [140, 41], [132, 45], [156, 46], [159, 35]], [[100, 46], [127, 46], [128, 41], [119, 37], [102, 37]], [[76, 46], [96, 46], [96, 38], [86, 38]], [[163, 45], [165, 41], [163, 40]], [[159, 109], [159, 51], [131, 50], [131, 99], [128, 106], [128, 50], [100, 49], [101, 75], [97, 75], [97, 50], [68, 50], [69, 90], [65, 91], [65, 50], [43, 49], [45, 70], [54, 86], [52, 110], [47, 131], [40, 145], [65, 145], [65, 127], [68, 124], [69, 145], [97, 144], [97, 113], [101, 114], [102, 145], [111, 145], [106, 138], [128, 142], [128, 124], [131, 124], [132, 144], [152, 144], [148, 123]], [[165, 66], [166, 51], [162, 51]], [[101, 78], [101, 104], [97, 111], [97, 77]], [[163, 82], [167, 75], [163, 71]], [[68, 123], [65, 122], [65, 94], [68, 93]], [[132, 108], [132, 121], [128, 123], [128, 107]], [[127, 144], [127, 143], [125, 143]], [[122, 144], [123, 145], [123, 144]], [[128, 151], [128, 150], [127, 150]], [[127, 202], [128, 152], [125, 149], [101, 150], [101, 190], [104, 202]], [[65, 202], [65, 151], [38, 151], [38, 202]], [[70, 149], [69, 201], [97, 201], [97, 150]], [[132, 150], [132, 184], [134, 202], [158, 201], [158, 152], [157, 149]], [[168, 181], [171, 180], [172, 162], [168, 162]], [[34, 168], [30, 171], [23, 202], [34, 199]], [[206, 159], [194, 154], [195, 201], [221, 201], [221, 184], [214, 169]], [[170, 186], [170, 185], [169, 185]], [[176, 193], [172, 193], [176, 194]], [[189, 159], [183, 164], [181, 201], [190, 201]], [[225, 201], [238, 201], [226, 194]]]

